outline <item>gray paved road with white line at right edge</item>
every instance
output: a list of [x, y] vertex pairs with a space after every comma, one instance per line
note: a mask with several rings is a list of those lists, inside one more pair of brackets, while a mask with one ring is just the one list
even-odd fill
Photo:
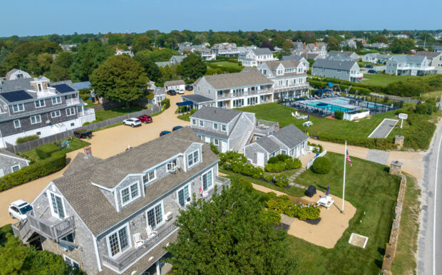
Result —
[[[442, 127], [439, 123], [425, 167], [421, 192], [421, 228], [418, 237], [418, 274], [442, 274]], [[435, 199], [436, 198], [436, 199]]]

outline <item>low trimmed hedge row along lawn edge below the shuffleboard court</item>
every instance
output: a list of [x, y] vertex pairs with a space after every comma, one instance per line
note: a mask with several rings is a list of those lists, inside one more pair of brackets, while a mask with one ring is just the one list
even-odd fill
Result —
[[366, 147], [369, 149], [380, 149], [380, 150], [396, 149], [393, 137], [369, 138], [369, 137], [351, 137], [343, 135], [334, 135], [330, 133], [320, 133], [318, 139], [334, 143], [341, 143], [341, 144], [344, 144], [345, 141], [347, 141], [348, 145]]

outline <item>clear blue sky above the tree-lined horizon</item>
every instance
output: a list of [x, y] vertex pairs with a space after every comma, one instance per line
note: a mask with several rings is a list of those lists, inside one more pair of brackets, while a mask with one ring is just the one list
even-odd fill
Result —
[[0, 36], [442, 28], [441, 0], [19, 0], [0, 11]]

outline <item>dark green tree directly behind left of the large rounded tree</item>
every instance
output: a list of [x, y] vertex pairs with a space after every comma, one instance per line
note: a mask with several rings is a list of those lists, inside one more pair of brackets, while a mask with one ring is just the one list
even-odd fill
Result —
[[93, 70], [98, 68], [114, 51], [98, 41], [90, 41], [78, 46], [70, 68], [73, 81], [88, 81]]

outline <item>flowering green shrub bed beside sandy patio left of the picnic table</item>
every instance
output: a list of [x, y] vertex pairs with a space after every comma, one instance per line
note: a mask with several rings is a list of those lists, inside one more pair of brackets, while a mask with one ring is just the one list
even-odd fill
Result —
[[319, 214], [321, 214], [321, 209], [315, 204], [292, 202], [287, 195], [272, 196], [266, 205], [268, 209], [274, 209], [278, 213], [286, 214], [289, 217], [297, 217], [302, 221], [318, 219]]

